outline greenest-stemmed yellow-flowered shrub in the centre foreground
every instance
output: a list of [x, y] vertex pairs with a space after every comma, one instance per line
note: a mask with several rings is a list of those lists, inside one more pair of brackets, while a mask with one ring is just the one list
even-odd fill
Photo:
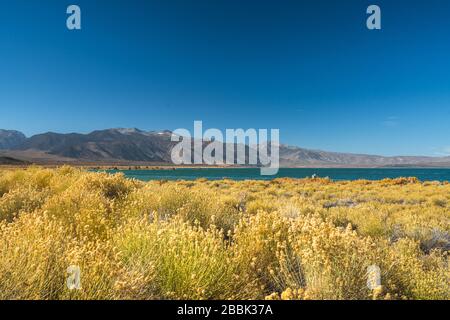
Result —
[[131, 221], [117, 236], [124, 264], [144, 277], [159, 298], [245, 299], [251, 282], [240, 275], [219, 231], [194, 227], [181, 219]]

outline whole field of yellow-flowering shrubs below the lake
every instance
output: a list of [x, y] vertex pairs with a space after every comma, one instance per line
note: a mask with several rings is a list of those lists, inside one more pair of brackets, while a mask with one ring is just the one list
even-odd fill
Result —
[[0, 169], [0, 299], [450, 299], [448, 182], [86, 169]]

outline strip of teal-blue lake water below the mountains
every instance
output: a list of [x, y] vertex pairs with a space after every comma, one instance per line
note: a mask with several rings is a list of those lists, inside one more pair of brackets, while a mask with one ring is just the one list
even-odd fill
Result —
[[276, 176], [261, 176], [257, 168], [177, 168], [168, 170], [108, 170], [107, 172], [123, 172], [126, 177], [143, 181], [150, 180], [195, 180], [206, 178], [210, 180], [270, 180], [274, 178], [307, 178], [312, 175], [329, 177], [332, 180], [381, 180], [384, 178], [416, 177], [421, 181], [450, 181], [450, 168], [377, 168], [377, 169], [310, 169], [284, 168]]

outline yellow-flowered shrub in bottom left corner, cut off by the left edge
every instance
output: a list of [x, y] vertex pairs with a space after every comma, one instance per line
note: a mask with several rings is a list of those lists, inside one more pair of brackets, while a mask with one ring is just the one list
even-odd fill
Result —
[[1, 224], [0, 237], [0, 298], [58, 299], [70, 241], [63, 225], [45, 215], [24, 214]]

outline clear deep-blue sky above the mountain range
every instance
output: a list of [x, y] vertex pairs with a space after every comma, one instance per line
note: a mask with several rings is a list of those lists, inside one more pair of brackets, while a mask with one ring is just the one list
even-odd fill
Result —
[[449, 17], [448, 0], [4, 0], [0, 128], [203, 120], [329, 151], [450, 154]]

